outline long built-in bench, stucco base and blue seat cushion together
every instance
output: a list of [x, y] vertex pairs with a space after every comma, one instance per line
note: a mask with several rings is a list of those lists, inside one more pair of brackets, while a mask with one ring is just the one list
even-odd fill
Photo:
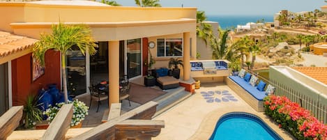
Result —
[[238, 76], [229, 76], [226, 83], [235, 93], [238, 94], [245, 102], [256, 111], [264, 111], [265, 91], [259, 91], [257, 86], [252, 86], [243, 78]]

